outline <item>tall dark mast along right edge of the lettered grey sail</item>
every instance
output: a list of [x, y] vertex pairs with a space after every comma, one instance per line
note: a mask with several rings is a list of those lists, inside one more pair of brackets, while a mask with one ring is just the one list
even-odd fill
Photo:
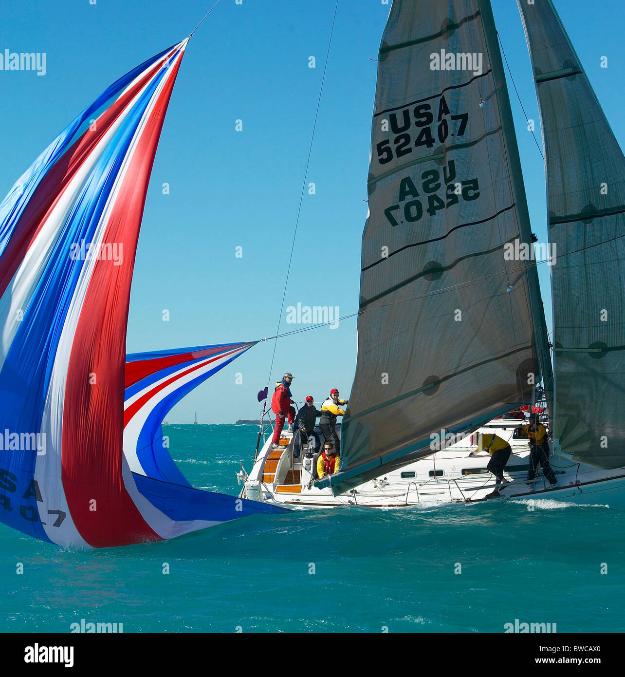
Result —
[[[501, 51], [497, 41], [497, 29], [492, 16], [492, 7], [490, 0], [478, 0], [478, 6], [482, 14], [482, 25], [484, 26], [484, 35], [486, 37], [486, 48], [488, 49], [488, 59], [492, 68], [492, 76], [496, 84], [496, 101], [499, 106], [499, 115], [501, 124], [506, 130], [503, 135], [503, 141], [507, 150], [509, 164], [509, 178], [512, 184], [512, 192], [515, 196], [517, 211], [519, 213], [519, 239], [521, 243], [526, 243], [530, 248], [532, 244], [532, 227], [530, 225], [530, 213], [526, 199], [525, 183], [523, 180], [523, 171], [521, 167], [521, 158], [519, 156], [519, 147], [517, 146], [517, 137], [510, 107], [510, 97], [505, 79], [503, 61], [501, 60]], [[536, 343], [536, 353], [538, 364], [540, 365], [540, 376], [542, 376], [542, 386], [545, 389], [547, 399], [547, 408], [549, 410], [549, 421], [553, 429], [553, 370], [551, 368], [551, 355], [549, 353], [549, 341], [547, 335], [547, 323], [545, 322], [545, 310], [542, 306], [542, 297], [540, 295], [540, 284], [538, 282], [538, 271], [536, 263], [528, 265], [526, 272], [528, 295], [530, 297], [530, 313], [532, 315], [532, 327], [534, 329], [534, 342]], [[511, 280], [511, 283], [514, 281]]]

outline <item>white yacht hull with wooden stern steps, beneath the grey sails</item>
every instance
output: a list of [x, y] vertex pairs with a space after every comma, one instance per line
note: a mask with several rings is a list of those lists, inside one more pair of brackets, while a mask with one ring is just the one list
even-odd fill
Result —
[[[249, 476], [244, 477], [241, 497], [290, 508], [336, 508], [367, 506], [398, 508], [427, 503], [478, 502], [484, 500], [557, 500], [576, 504], [607, 504], [625, 508], [625, 468], [605, 471], [552, 455], [551, 467], [558, 487], [552, 489], [538, 469], [538, 478], [528, 483], [530, 451], [527, 441], [513, 439], [519, 419], [499, 418], [480, 428], [507, 439], [513, 453], [505, 468], [509, 484], [500, 487], [499, 496], [489, 497], [495, 488], [494, 477], [486, 471], [488, 454], [469, 456], [476, 447], [467, 437], [445, 450], [436, 452], [396, 471], [381, 475], [340, 496], [329, 488], [312, 485], [312, 459], [293, 458], [293, 439], [283, 433], [288, 444], [271, 449], [271, 437], [264, 443]], [[323, 435], [321, 435], [323, 439]], [[308, 462], [307, 462], [308, 461]]]

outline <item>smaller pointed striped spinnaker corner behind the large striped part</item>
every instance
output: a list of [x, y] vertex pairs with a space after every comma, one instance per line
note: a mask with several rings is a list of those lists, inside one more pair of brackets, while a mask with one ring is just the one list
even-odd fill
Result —
[[169, 456], [161, 421], [187, 393], [253, 345], [204, 345], [126, 357], [124, 456], [133, 473], [191, 486]]

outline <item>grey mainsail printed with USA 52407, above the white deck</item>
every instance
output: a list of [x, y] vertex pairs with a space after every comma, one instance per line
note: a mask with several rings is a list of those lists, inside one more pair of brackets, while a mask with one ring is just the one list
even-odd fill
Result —
[[341, 472], [317, 483], [335, 493], [431, 453], [435, 431], [531, 404], [540, 361], [549, 377], [536, 269], [519, 254], [530, 225], [488, 0], [394, 1], [368, 186]]

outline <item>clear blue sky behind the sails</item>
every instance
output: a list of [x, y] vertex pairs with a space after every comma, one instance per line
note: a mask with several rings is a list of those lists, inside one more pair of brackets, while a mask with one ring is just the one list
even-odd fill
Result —
[[[93, 2], [93, 0], [91, 0]], [[517, 7], [492, 0], [526, 112], [538, 125]], [[597, 8], [600, 4], [601, 9]], [[621, 145], [625, 5], [555, 0]], [[47, 72], [0, 72], [0, 193], [103, 89], [177, 43], [212, 1], [3, 0], [0, 51], [47, 55]], [[273, 336], [335, 0], [221, 0], [187, 48], [147, 194], [128, 326], [129, 352]], [[377, 49], [388, 5], [340, 0], [285, 307], [358, 309], [361, 235]], [[308, 68], [315, 56], [317, 68]], [[608, 68], [600, 68], [607, 56]], [[532, 229], [546, 238], [542, 158], [511, 91]], [[235, 131], [235, 120], [243, 131]], [[537, 135], [540, 139], [539, 131]], [[168, 183], [170, 194], [162, 194]], [[242, 248], [242, 258], [235, 248]], [[549, 270], [540, 278], [551, 329]], [[170, 321], [163, 322], [167, 309]], [[296, 326], [286, 324], [281, 332]], [[273, 342], [256, 345], [172, 410], [168, 420], [257, 418]], [[356, 320], [281, 339], [272, 383], [293, 372], [295, 399], [348, 395]], [[243, 383], [235, 383], [240, 373]], [[239, 378], [240, 380], [240, 378]]]

